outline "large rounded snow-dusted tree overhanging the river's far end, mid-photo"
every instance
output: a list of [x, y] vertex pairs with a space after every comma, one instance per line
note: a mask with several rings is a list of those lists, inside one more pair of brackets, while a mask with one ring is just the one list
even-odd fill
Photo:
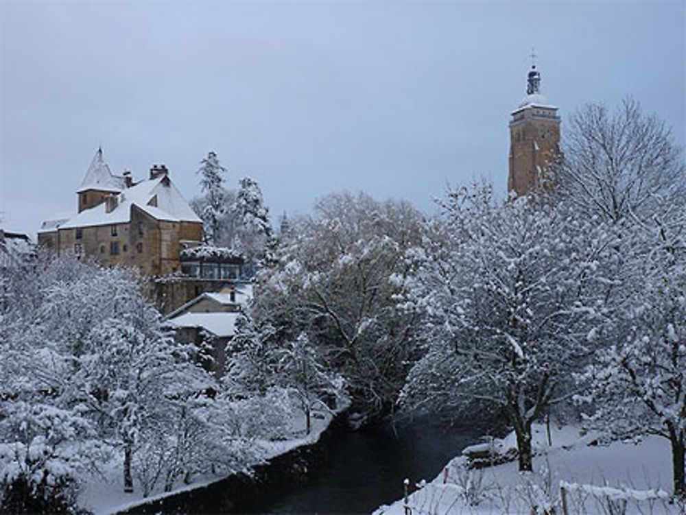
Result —
[[[279, 346], [305, 332], [340, 372], [360, 409], [388, 411], [414, 345], [412, 315], [397, 309], [403, 254], [421, 242], [422, 217], [405, 202], [348, 193], [297, 221], [279, 263], [259, 276], [252, 315]], [[400, 278], [400, 280], [399, 280]]]

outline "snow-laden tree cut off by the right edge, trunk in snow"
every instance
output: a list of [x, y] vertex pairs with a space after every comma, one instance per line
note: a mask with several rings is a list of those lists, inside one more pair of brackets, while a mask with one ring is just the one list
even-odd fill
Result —
[[[593, 403], [590, 422], [620, 438], [660, 435], [672, 446], [674, 495], [686, 495], [686, 217], [638, 228], [626, 292], [608, 334], [612, 344], [580, 376]], [[636, 250], [638, 249], [638, 250]]]

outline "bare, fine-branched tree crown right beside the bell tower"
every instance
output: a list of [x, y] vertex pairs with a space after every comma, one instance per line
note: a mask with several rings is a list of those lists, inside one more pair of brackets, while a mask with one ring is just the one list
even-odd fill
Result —
[[616, 221], [650, 219], [686, 202], [686, 164], [665, 123], [637, 101], [617, 110], [589, 104], [565, 130], [557, 180], [578, 209]]

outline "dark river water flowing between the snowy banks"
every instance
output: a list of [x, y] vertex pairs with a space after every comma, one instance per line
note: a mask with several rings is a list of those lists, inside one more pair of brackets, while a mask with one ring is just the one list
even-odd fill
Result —
[[344, 432], [331, 442], [330, 459], [303, 486], [259, 507], [271, 514], [369, 514], [403, 496], [403, 480], [434, 479], [451, 457], [475, 440], [466, 429], [425, 424]]

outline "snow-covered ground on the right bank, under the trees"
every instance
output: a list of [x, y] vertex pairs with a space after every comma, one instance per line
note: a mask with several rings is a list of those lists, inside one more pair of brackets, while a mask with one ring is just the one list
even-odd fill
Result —
[[[374, 515], [562, 514], [560, 486], [567, 490], [569, 515], [686, 514], [685, 506], [667, 502], [672, 458], [665, 438], [589, 446], [595, 435], [582, 437], [577, 428], [563, 427], [552, 428], [548, 446], [545, 427], [534, 430], [533, 473], [520, 474], [516, 462], [467, 470], [466, 458], [456, 457], [436, 479], [418, 485], [407, 502], [410, 510], [400, 500]], [[514, 435], [496, 446], [512, 448]], [[624, 503], [626, 512], [618, 510]]]

